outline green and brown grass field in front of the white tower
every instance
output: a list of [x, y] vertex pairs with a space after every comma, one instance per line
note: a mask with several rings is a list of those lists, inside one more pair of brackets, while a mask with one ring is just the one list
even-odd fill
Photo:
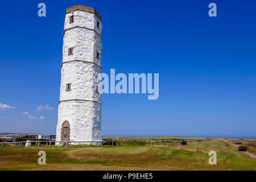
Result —
[[[225, 140], [208, 138], [150, 137], [122, 140], [119, 146], [72, 146], [72, 148], [16, 147], [0, 149], [0, 170], [254, 170], [256, 159], [239, 152]], [[180, 139], [187, 140], [181, 146]], [[146, 141], [146, 145], [125, 143]], [[148, 145], [150, 142], [150, 146]], [[165, 141], [165, 142], [162, 142]], [[166, 142], [167, 141], [167, 142]], [[233, 141], [233, 140], [232, 140]], [[237, 142], [234, 140], [233, 142]], [[254, 140], [245, 140], [255, 152]], [[38, 164], [38, 152], [46, 152], [46, 165]], [[208, 163], [208, 152], [217, 152], [217, 165]]]

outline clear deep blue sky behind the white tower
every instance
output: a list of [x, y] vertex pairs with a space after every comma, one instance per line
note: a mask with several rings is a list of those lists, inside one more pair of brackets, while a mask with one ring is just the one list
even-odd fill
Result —
[[65, 9], [85, 5], [102, 16], [102, 72], [159, 73], [158, 100], [102, 95], [102, 135], [256, 138], [255, 1], [1, 5], [0, 132], [55, 134]]

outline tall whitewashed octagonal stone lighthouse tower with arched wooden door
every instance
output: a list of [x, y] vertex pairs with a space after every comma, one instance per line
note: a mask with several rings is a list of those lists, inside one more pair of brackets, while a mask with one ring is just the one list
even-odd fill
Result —
[[91, 7], [65, 14], [56, 141], [101, 140], [101, 16]]

